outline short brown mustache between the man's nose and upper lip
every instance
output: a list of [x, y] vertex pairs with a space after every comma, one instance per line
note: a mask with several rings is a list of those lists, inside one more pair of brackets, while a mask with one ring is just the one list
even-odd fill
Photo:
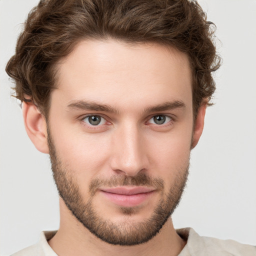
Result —
[[152, 186], [155, 189], [163, 189], [164, 182], [161, 178], [152, 178], [145, 173], [139, 173], [136, 176], [112, 176], [109, 179], [95, 178], [90, 182], [89, 193], [94, 195], [96, 190], [101, 186]]

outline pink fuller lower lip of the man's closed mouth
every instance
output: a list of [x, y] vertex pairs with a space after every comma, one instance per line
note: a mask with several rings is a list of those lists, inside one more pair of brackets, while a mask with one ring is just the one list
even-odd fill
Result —
[[123, 207], [133, 207], [141, 204], [145, 200], [147, 200], [154, 191], [139, 193], [139, 194], [114, 194], [101, 190], [101, 193], [109, 199], [111, 202], [118, 204]]

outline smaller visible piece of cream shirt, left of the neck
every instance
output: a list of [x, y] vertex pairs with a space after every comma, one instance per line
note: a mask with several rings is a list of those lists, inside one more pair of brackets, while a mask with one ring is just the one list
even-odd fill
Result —
[[56, 231], [42, 231], [36, 244], [19, 250], [11, 256], [57, 256], [47, 242], [55, 233]]

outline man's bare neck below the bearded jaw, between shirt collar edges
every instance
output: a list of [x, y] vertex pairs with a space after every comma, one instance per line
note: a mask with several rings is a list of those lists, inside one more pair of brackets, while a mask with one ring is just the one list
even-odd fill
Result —
[[51, 248], [59, 255], [97, 256], [111, 255], [169, 255], [176, 256], [185, 242], [176, 233], [169, 218], [159, 233], [146, 243], [122, 246], [106, 243], [85, 228], [60, 202], [60, 225], [57, 233], [48, 241]]

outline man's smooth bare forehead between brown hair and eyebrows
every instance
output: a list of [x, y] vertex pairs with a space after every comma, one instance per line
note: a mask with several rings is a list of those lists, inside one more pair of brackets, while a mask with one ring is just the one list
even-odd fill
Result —
[[192, 102], [188, 58], [164, 45], [84, 40], [57, 69], [51, 103], [57, 97], [63, 106], [71, 100], [111, 103], [117, 108], [172, 99]]

